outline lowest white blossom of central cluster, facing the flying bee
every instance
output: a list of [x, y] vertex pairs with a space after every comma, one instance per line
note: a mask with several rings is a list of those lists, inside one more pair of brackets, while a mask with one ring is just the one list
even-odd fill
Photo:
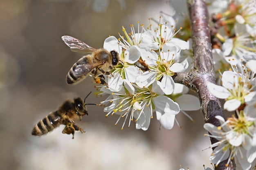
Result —
[[[157, 82], [154, 82], [148, 88], [139, 88], [136, 84], [124, 80], [124, 86], [120, 91], [114, 93], [109, 89], [101, 88], [98, 95], [103, 94], [110, 95], [100, 104], [110, 102], [110, 105], [104, 108], [104, 112], [107, 112], [106, 116], [119, 115], [117, 123], [122, 117], [125, 117], [124, 124], [126, 119], [129, 118], [128, 127], [135, 118], [136, 128], [147, 130], [150, 119], [153, 118], [153, 111], [155, 111], [161, 126], [171, 129], [175, 115], [180, 112], [178, 104], [164, 96], [164, 92], [159, 89]], [[124, 124], [121, 129], [124, 128]]]

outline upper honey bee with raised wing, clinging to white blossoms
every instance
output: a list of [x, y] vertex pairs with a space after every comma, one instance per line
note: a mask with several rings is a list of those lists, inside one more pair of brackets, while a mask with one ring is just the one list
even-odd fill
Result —
[[[81, 57], [67, 73], [67, 84], [77, 84], [85, 79], [90, 73], [98, 84], [106, 84], [102, 74], [109, 75], [114, 66], [119, 63], [117, 51], [106, 49], [94, 49], [84, 42], [70, 37], [62, 36], [62, 40], [70, 47], [71, 51], [78, 53], [91, 53]], [[100, 73], [98, 73], [98, 71]]]

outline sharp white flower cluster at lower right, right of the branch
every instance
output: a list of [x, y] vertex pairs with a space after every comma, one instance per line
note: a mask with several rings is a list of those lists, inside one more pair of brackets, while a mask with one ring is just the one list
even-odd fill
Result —
[[249, 170], [256, 163], [256, 60], [240, 66], [241, 71], [231, 67], [222, 74], [222, 86], [208, 83], [208, 88], [216, 97], [225, 99], [224, 109], [235, 111], [235, 115], [227, 121], [217, 116], [221, 126], [207, 123], [204, 128], [211, 134], [207, 136], [219, 140], [209, 147], [216, 147], [210, 157], [212, 163], [218, 165], [228, 159], [228, 165], [236, 156], [242, 169]]

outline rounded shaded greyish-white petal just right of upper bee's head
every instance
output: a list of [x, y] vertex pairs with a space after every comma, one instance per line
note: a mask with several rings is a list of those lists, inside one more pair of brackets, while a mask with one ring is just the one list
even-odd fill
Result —
[[141, 56], [138, 46], [131, 46], [124, 52], [124, 62], [133, 64], [139, 60]]

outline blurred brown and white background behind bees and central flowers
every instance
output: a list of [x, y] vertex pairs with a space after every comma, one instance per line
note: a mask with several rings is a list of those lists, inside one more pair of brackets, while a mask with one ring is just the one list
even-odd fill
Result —
[[[62, 134], [63, 126], [43, 137], [31, 136], [34, 125], [62, 102], [96, 91], [88, 77], [75, 86], [65, 82], [80, 57], [61, 36], [70, 35], [102, 48], [108, 35], [118, 37], [121, 26], [148, 26], [159, 11], [171, 13], [166, 0], [1, 0], [0, 1], [0, 169], [203, 169], [209, 165], [210, 145], [203, 137], [200, 111], [182, 113], [172, 130], [159, 130], [156, 117], [147, 131], [135, 124], [121, 130], [118, 116], [105, 118], [103, 107], [89, 105], [83, 117], [86, 133]], [[98, 4], [98, 5], [101, 5]], [[135, 29], [136, 30], [136, 29]], [[194, 93], [193, 93], [194, 94]], [[88, 103], [105, 97], [90, 95]]]

